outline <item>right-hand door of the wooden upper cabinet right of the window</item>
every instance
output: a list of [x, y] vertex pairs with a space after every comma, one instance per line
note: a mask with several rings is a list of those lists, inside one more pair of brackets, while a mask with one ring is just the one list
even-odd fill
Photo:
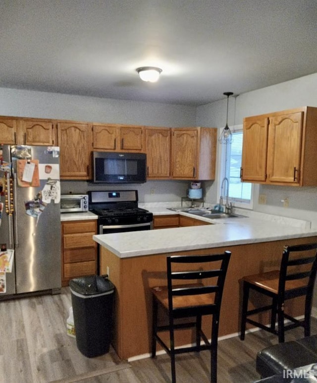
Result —
[[299, 184], [304, 112], [270, 118], [267, 181]]

